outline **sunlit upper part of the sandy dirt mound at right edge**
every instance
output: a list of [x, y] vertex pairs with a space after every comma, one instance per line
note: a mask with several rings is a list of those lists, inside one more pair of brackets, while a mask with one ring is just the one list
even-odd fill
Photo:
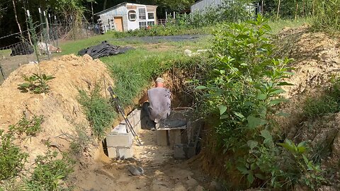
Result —
[[307, 25], [301, 28], [284, 28], [278, 34], [280, 54], [293, 58], [290, 64], [294, 75], [288, 80], [295, 86], [285, 87], [290, 98], [329, 83], [331, 74], [340, 71], [340, 41], [325, 33], [312, 33]]

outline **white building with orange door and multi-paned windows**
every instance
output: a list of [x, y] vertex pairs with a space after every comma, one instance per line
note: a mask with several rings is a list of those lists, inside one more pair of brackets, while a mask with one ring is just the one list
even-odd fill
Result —
[[103, 28], [108, 30], [128, 31], [147, 28], [157, 24], [157, 6], [122, 3], [94, 14], [99, 16]]

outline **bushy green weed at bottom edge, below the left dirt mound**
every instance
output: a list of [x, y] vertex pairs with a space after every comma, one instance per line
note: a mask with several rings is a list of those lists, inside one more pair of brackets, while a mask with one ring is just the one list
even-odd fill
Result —
[[37, 156], [36, 167], [26, 180], [28, 190], [65, 190], [62, 180], [73, 171], [73, 161], [67, 155], [58, 158], [57, 151], [47, 151], [45, 156]]

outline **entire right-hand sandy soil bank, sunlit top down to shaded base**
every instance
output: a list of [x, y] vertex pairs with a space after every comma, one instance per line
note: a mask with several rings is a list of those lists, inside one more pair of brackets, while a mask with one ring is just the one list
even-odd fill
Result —
[[[295, 142], [309, 141], [315, 157], [320, 157], [323, 169], [339, 169], [340, 160], [340, 113], [317, 119], [306, 119], [302, 108], [307, 98], [317, 98], [330, 87], [331, 79], [339, 78], [340, 37], [326, 33], [312, 33], [307, 25], [300, 28], [284, 28], [278, 34], [280, 54], [293, 58], [290, 64], [294, 75], [285, 86], [285, 98], [290, 102], [283, 111], [290, 117], [280, 120], [288, 139]], [[339, 172], [339, 170], [338, 170]], [[340, 180], [339, 173], [333, 179]], [[336, 181], [332, 185], [336, 185]], [[336, 185], [339, 186], [339, 185]]]

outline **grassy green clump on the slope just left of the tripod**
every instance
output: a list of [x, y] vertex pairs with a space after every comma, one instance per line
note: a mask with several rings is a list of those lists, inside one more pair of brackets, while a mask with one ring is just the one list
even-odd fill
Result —
[[107, 129], [113, 124], [115, 110], [106, 98], [101, 96], [98, 84], [89, 95], [84, 90], [79, 90], [79, 103], [83, 105], [86, 118], [89, 120], [93, 134], [100, 139]]

